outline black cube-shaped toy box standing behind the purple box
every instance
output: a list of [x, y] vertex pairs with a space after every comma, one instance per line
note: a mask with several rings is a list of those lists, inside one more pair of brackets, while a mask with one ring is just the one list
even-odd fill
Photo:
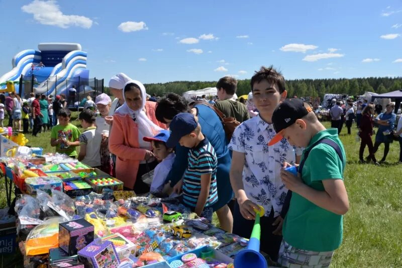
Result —
[[94, 227], [80, 218], [59, 224], [59, 247], [72, 256], [93, 241]]

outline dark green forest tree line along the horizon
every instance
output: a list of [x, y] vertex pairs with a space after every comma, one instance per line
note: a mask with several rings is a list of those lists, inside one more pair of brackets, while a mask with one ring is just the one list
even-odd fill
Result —
[[[167, 83], [144, 84], [148, 94], [163, 96], [167, 92], [182, 94], [189, 90], [198, 90], [215, 87], [217, 81], [174, 81]], [[238, 80], [237, 95], [250, 92], [250, 79]], [[324, 94], [347, 94], [350, 96], [362, 95], [364, 92], [378, 94], [402, 90], [402, 77], [368, 77], [368, 78], [339, 78], [339, 79], [295, 79], [286, 80], [288, 96], [323, 97]], [[109, 93], [109, 88], [105, 87]]]

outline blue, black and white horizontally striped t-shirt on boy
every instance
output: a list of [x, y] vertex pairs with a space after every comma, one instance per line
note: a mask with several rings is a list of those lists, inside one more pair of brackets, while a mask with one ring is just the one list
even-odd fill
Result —
[[207, 138], [201, 141], [197, 147], [188, 152], [188, 167], [183, 179], [183, 202], [195, 207], [199, 193], [201, 192], [201, 175], [212, 174], [210, 193], [205, 207], [209, 207], [218, 201], [217, 191], [217, 166], [218, 160], [214, 147]]

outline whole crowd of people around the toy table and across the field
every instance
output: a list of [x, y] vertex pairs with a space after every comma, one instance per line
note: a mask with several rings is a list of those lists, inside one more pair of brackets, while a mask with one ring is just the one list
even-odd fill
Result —
[[[335, 100], [333, 128], [326, 129], [309, 104], [287, 98], [284, 77], [272, 66], [252, 76], [245, 103], [237, 99], [232, 77], [218, 81], [215, 100], [149, 96], [140, 81], [123, 73], [113, 76], [109, 87], [113, 101], [105, 93], [93, 104], [87, 100], [90, 105], [78, 117], [82, 133], [70, 123], [65, 97], [56, 96], [54, 120], [49, 120], [55, 123], [51, 146], [56, 152], [115, 176], [125, 190], [177, 197], [209, 220], [216, 212], [222, 229], [242, 237], [250, 237], [262, 207], [261, 250], [287, 267], [328, 267], [341, 245], [342, 215], [349, 209], [343, 183], [346, 156], [338, 138], [343, 118], [348, 132], [356, 119], [360, 160], [367, 145], [367, 159], [374, 163], [381, 143], [385, 160], [389, 143], [384, 132], [393, 129], [395, 120], [391, 104], [373, 120], [372, 104], [358, 105], [355, 114], [353, 105], [342, 107]], [[46, 98], [40, 98], [35, 95], [30, 105], [34, 133], [38, 117], [45, 116]], [[220, 113], [234, 118], [233, 131]], [[373, 145], [374, 121], [379, 129]], [[401, 120], [397, 129], [392, 136], [399, 135], [402, 149]]]

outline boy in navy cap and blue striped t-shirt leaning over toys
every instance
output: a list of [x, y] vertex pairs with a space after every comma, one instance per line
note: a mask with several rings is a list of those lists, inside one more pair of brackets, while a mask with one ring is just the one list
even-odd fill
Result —
[[183, 204], [198, 216], [211, 221], [211, 205], [218, 201], [215, 150], [191, 113], [178, 113], [170, 122], [169, 129], [168, 148], [174, 148], [177, 144], [190, 148], [184, 178], [174, 186], [174, 192], [183, 192]]

